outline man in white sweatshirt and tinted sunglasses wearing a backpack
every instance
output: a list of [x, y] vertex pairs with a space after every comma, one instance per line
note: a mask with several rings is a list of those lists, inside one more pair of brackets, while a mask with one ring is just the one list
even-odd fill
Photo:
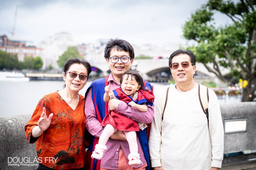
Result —
[[[193, 76], [196, 59], [189, 50], [169, 58], [175, 85], [170, 86], [164, 114], [155, 100], [149, 151], [154, 170], [218, 170], [223, 160], [224, 132], [218, 99], [209, 89], [209, 125]], [[163, 115], [163, 120], [162, 120]], [[209, 128], [209, 129], [208, 129]]]

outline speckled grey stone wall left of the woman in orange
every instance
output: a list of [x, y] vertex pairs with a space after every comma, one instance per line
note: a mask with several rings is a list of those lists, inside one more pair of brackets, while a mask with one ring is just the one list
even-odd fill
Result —
[[[36, 145], [28, 143], [24, 130], [30, 118], [30, 114], [0, 118], [0, 169], [32, 170], [38, 167], [26, 165], [18, 167], [13, 164], [16, 161], [18, 161], [17, 164], [20, 164], [19, 161], [26, 164], [28, 159], [33, 162], [37, 158]], [[8, 165], [8, 162], [12, 165]]]

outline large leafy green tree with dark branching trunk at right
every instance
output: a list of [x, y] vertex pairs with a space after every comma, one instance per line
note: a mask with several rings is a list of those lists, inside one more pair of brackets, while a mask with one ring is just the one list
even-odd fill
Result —
[[[231, 19], [230, 24], [215, 26], [214, 13]], [[183, 36], [196, 41], [188, 47], [220, 80], [227, 82], [221, 67], [230, 69], [233, 77], [248, 81], [242, 102], [253, 101], [256, 90], [256, 1], [208, 0], [191, 15], [183, 26]], [[209, 67], [209, 63], [213, 67]]]

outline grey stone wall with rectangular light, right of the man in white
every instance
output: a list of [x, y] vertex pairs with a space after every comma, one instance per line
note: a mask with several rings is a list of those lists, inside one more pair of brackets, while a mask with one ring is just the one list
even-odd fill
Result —
[[222, 120], [247, 118], [247, 132], [224, 134], [224, 154], [256, 150], [256, 102], [220, 103]]

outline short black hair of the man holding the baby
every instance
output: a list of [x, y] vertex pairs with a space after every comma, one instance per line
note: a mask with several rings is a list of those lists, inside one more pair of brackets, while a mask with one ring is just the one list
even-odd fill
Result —
[[131, 59], [134, 59], [134, 50], [130, 43], [122, 39], [110, 39], [104, 51], [104, 57], [107, 59], [110, 56], [111, 49], [116, 48], [117, 51], [129, 52]]

